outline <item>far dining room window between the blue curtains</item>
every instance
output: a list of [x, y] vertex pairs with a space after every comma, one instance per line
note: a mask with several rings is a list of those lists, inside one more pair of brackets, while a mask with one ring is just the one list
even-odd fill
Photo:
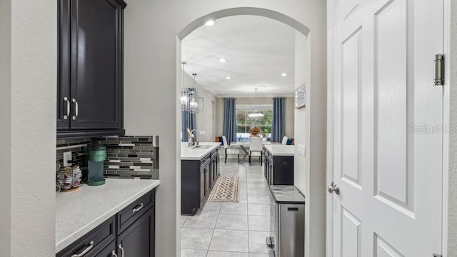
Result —
[[[250, 118], [253, 109], [263, 114], [260, 118]], [[249, 141], [251, 127], [258, 126], [263, 135], [264, 141], [271, 137], [271, 121], [273, 119], [273, 106], [271, 104], [258, 105], [236, 105], [236, 141]]]

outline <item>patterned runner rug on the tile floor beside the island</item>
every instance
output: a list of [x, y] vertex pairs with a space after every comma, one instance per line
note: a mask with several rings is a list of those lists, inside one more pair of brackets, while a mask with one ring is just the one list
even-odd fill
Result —
[[219, 176], [208, 201], [238, 201], [238, 177]]

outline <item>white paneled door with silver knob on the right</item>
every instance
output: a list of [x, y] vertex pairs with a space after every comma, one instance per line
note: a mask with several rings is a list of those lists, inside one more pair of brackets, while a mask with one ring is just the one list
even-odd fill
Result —
[[[334, 257], [441, 253], [443, 0], [329, 0]], [[331, 69], [330, 69], [331, 70]]]

